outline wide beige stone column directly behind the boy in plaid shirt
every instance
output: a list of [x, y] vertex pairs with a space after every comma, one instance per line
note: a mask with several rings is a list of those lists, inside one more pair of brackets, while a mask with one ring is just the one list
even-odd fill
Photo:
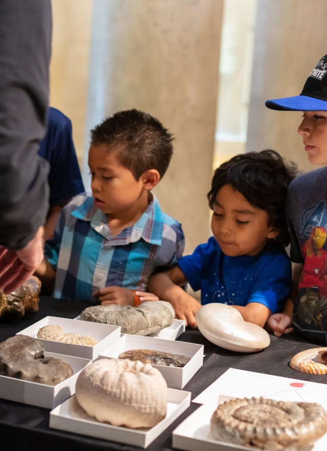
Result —
[[[222, 0], [99, 0], [90, 52], [89, 129], [137, 108], [175, 135], [171, 165], [155, 188], [182, 223], [187, 253], [208, 239]], [[87, 174], [84, 158], [84, 176]]]

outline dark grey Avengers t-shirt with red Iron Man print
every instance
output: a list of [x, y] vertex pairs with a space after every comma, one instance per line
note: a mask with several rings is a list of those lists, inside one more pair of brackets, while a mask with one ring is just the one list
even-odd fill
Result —
[[327, 344], [327, 168], [295, 178], [287, 194], [291, 259], [302, 263], [293, 325]]

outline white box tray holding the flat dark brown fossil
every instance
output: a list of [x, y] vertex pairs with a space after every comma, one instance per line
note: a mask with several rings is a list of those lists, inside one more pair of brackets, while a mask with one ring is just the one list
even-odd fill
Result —
[[151, 349], [190, 357], [189, 362], [181, 368], [152, 364], [165, 377], [168, 387], [171, 388], [182, 389], [203, 365], [202, 345], [128, 334], [122, 335], [118, 341], [102, 351], [99, 354], [99, 359], [118, 359], [121, 352], [130, 349]]

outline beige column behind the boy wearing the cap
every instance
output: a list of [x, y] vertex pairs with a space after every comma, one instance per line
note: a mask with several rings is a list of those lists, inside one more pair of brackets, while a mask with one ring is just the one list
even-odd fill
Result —
[[305, 171], [317, 165], [308, 162], [297, 134], [302, 113], [270, 110], [265, 101], [301, 92], [327, 54], [326, 22], [325, 0], [258, 1], [247, 150], [273, 148]]

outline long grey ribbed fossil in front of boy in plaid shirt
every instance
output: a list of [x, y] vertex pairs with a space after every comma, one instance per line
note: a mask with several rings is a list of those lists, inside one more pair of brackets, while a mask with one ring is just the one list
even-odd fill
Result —
[[172, 324], [173, 307], [166, 301], [143, 302], [131, 305], [94, 305], [85, 308], [81, 320], [121, 326], [122, 334], [149, 335]]

